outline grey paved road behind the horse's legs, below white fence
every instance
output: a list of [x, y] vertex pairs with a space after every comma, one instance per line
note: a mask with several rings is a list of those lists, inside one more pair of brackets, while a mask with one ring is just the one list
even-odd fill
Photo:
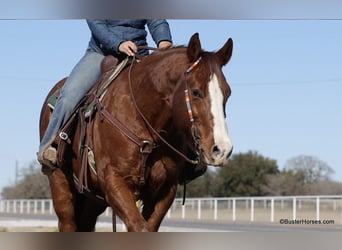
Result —
[[[47, 221], [57, 226], [57, 220], [54, 215], [27, 215], [27, 214], [4, 214], [0, 213], [1, 221]], [[100, 217], [99, 224], [111, 228], [110, 217]], [[51, 225], [51, 223], [49, 223]], [[120, 231], [122, 223], [117, 221], [117, 228]], [[258, 224], [258, 223], [222, 223], [215, 221], [188, 221], [165, 219], [161, 225], [160, 231], [164, 232], [342, 232], [342, 225], [281, 225], [281, 224]]]

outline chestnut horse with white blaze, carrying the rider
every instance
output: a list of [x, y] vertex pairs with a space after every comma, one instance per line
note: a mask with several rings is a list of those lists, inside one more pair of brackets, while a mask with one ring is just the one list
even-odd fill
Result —
[[[48, 171], [42, 166], [60, 231], [93, 231], [108, 206], [128, 231], [158, 231], [179, 183], [202, 175], [207, 165], [227, 164], [232, 143], [225, 106], [231, 90], [222, 67], [232, 49], [229, 38], [217, 52], [206, 52], [195, 33], [187, 46], [156, 51], [118, 75], [87, 128], [96, 162], [96, 173], [86, 170], [91, 193], [79, 192], [73, 178], [81, 165], [79, 126], [65, 163]], [[51, 115], [46, 102], [40, 137]]]

